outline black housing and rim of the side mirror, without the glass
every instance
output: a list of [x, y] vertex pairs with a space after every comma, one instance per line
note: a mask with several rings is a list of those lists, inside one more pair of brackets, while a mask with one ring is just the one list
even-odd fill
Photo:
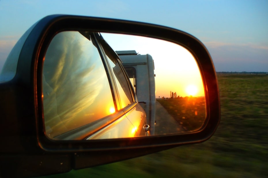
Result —
[[[104, 140], [51, 140], [45, 134], [42, 69], [52, 38], [66, 30], [146, 36], [179, 44], [195, 57], [205, 89], [207, 120], [195, 132]], [[204, 142], [220, 122], [216, 72], [205, 46], [192, 35], [154, 24], [51, 15], [39, 20], [21, 41], [14, 78], [0, 83], [1, 176], [39, 176], [116, 162], [161, 150]], [[15, 48], [15, 47], [14, 47]], [[16, 165], [16, 166], [14, 166]], [[13, 171], [10, 171], [14, 169]], [[25, 171], [27, 170], [27, 171]]]

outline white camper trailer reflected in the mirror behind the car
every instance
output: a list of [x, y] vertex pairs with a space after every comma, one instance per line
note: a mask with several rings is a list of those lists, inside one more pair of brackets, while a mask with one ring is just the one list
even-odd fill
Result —
[[154, 135], [155, 81], [154, 60], [149, 54], [140, 55], [136, 51], [116, 51], [131, 80], [139, 104], [146, 112], [150, 134]]

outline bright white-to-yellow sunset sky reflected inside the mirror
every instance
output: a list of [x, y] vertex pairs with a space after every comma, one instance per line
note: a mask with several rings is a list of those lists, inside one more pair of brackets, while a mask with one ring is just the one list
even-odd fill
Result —
[[190, 96], [186, 91], [195, 85], [192, 96], [204, 96], [200, 71], [192, 54], [178, 44], [141, 36], [101, 33], [114, 51], [135, 50], [149, 54], [154, 60], [156, 98], [169, 98], [170, 91], [178, 96]]

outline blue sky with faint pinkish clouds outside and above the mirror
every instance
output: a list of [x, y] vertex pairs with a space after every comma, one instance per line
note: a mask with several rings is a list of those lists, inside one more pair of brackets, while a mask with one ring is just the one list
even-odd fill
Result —
[[20, 36], [42, 17], [55, 13], [177, 28], [205, 44], [216, 71], [268, 72], [266, 0], [0, 0], [0, 70]]

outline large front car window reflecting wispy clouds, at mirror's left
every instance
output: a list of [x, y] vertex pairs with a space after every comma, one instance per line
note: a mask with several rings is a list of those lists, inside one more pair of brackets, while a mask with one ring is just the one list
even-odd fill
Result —
[[57, 34], [47, 49], [43, 108], [51, 138], [115, 112], [98, 49], [79, 32]]

